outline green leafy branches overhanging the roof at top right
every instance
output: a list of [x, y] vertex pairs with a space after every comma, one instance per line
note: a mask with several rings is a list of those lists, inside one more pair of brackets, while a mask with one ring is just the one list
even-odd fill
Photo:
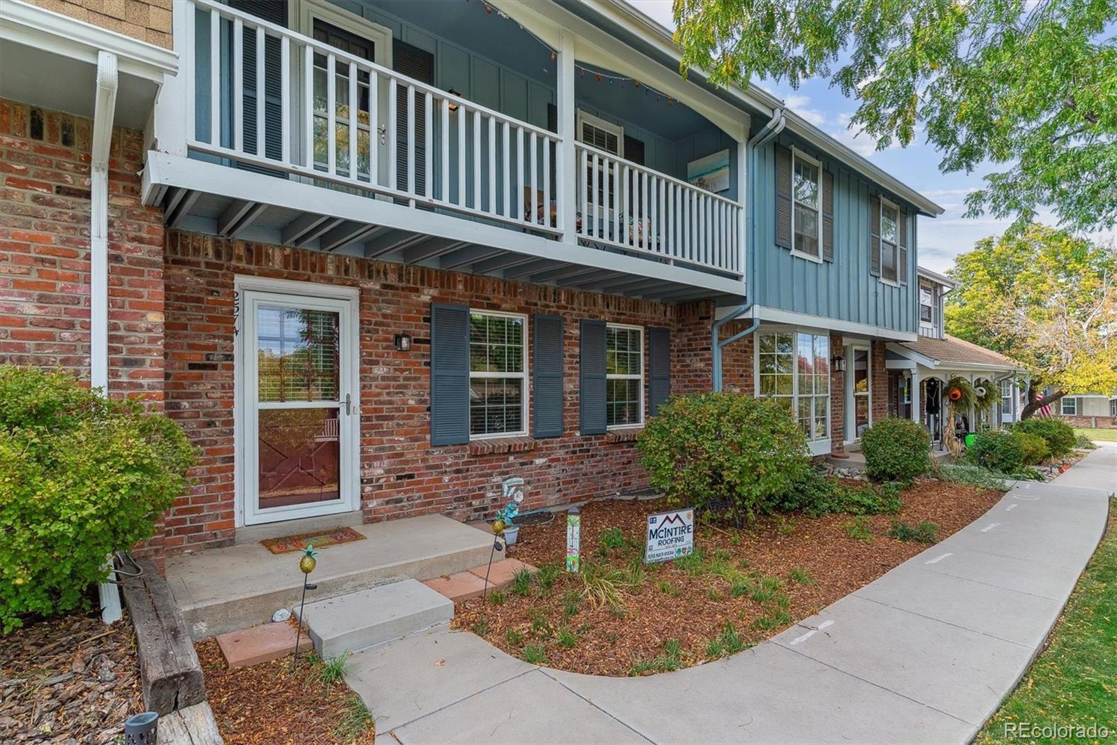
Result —
[[923, 131], [944, 172], [995, 164], [967, 217], [1117, 222], [1114, 0], [675, 0], [675, 20], [684, 75], [828, 77], [878, 147]]

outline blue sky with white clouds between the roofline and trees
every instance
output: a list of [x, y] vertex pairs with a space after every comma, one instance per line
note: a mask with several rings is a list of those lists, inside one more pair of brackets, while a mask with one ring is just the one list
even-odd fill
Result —
[[[671, 19], [670, 0], [628, 0], [633, 7], [647, 13], [669, 29], [675, 28]], [[946, 271], [954, 264], [954, 257], [973, 248], [974, 243], [1003, 232], [1011, 220], [996, 220], [985, 216], [965, 219], [964, 199], [966, 193], [982, 185], [982, 174], [997, 169], [986, 168], [975, 173], [939, 173], [938, 153], [930, 145], [916, 140], [908, 147], [889, 147], [877, 151], [876, 142], [867, 135], [855, 136], [847, 127], [850, 116], [857, 109], [857, 102], [847, 98], [828, 80], [811, 79], [798, 90], [786, 85], [764, 85], [764, 88], [783, 98], [787, 106], [811, 124], [836, 137], [860, 155], [888, 171], [897, 179], [917, 189], [934, 200], [946, 211], [937, 218], [919, 218], [919, 265], [935, 271]], [[1054, 223], [1050, 211], [1041, 210], [1040, 219]], [[1091, 236], [1095, 240], [1113, 239], [1115, 231]]]

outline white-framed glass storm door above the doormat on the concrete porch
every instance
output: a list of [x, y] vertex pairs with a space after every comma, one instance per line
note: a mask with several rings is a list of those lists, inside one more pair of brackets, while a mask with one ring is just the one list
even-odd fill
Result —
[[246, 289], [239, 332], [244, 523], [356, 509], [355, 300]]

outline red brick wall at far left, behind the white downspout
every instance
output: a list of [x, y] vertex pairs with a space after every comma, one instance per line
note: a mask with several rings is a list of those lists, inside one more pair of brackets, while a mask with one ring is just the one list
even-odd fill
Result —
[[[89, 376], [88, 120], [0, 99], [0, 363]], [[163, 390], [163, 220], [140, 199], [143, 134], [113, 132], [109, 393]]]

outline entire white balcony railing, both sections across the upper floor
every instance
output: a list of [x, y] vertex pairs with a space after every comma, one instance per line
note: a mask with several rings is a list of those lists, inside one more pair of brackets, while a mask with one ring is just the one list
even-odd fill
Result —
[[[397, 203], [739, 276], [739, 203], [213, 0], [184, 0], [191, 152]], [[574, 116], [573, 111], [560, 116]], [[567, 145], [569, 146], [569, 145]]]

